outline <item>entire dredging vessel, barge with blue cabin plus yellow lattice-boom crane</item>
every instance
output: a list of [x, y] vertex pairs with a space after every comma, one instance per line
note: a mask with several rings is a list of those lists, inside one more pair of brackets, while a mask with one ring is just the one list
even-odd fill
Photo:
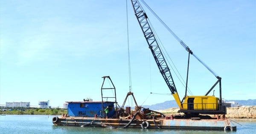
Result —
[[[141, 0], [144, 4], [145, 2]], [[162, 20], [155, 14], [158, 20], [170, 31], [170, 33], [178, 40], [178, 42], [188, 51], [188, 65], [186, 76], [185, 95], [182, 100], [178, 95], [175, 83], [172, 78], [172, 74], [168, 64], [165, 60], [165, 56], [162, 53], [157, 39], [154, 36], [151, 25], [149, 24], [148, 16], [138, 0], [131, 0], [134, 14], [140, 24], [140, 28], [143, 31], [143, 35], [148, 43], [148, 47], [153, 54], [154, 60], [157, 63], [160, 73], [162, 74], [172, 96], [175, 98], [177, 105], [180, 108], [181, 113], [184, 115], [172, 115], [166, 117], [164, 114], [153, 111], [148, 108], [138, 106], [133, 93], [128, 92], [123, 105], [120, 107], [116, 102], [116, 92], [114, 97], [105, 97], [102, 94], [102, 101], [100, 102], [67, 102], [68, 113], [61, 117], [53, 117], [52, 123], [54, 125], [71, 125], [71, 126], [100, 126], [109, 128], [168, 128], [168, 129], [209, 129], [209, 130], [236, 130], [236, 126], [232, 125], [230, 120], [225, 118], [227, 109], [224, 103], [222, 103], [221, 97], [221, 77], [215, 74], [206, 64], [204, 64], [194, 52], [186, 46], [186, 44], [177, 37], [174, 32], [166, 26]], [[146, 5], [146, 4], [145, 4]], [[147, 6], [147, 5], [146, 5]], [[148, 6], [147, 6], [148, 7]], [[150, 8], [149, 8], [150, 9]], [[150, 9], [151, 10], [151, 9]], [[151, 11], [153, 12], [153, 11]], [[207, 91], [203, 96], [188, 96], [187, 95], [187, 83], [189, 74], [189, 59], [190, 55], [193, 55], [200, 63], [202, 63], [216, 78], [216, 83]], [[103, 77], [110, 79], [110, 77]], [[111, 79], [110, 79], [111, 80]], [[103, 84], [104, 84], [103, 81]], [[111, 81], [112, 83], [112, 81]], [[208, 94], [219, 83], [220, 97], [209, 96]], [[102, 84], [102, 87], [103, 87]], [[113, 83], [112, 83], [113, 85]], [[114, 86], [113, 86], [114, 87]], [[114, 90], [115, 88], [102, 88], [102, 90]], [[132, 95], [136, 104], [134, 111], [131, 111], [131, 107], [124, 105], [128, 96]], [[103, 101], [104, 99], [114, 98], [115, 100]], [[119, 108], [117, 107], [119, 106]], [[104, 112], [105, 109], [105, 112]], [[108, 112], [107, 112], [108, 111]], [[210, 117], [209, 115], [217, 115], [216, 117]]]

